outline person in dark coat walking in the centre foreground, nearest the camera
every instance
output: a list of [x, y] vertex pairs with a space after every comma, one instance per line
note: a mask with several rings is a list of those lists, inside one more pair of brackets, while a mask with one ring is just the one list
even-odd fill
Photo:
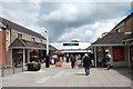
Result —
[[92, 65], [91, 58], [88, 56], [88, 53], [83, 57], [83, 67], [85, 69], [85, 76], [90, 75], [90, 66]]

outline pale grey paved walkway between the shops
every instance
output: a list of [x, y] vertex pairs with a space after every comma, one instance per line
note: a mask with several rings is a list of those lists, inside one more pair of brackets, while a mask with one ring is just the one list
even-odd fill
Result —
[[[121, 69], [123, 70], [123, 69]], [[40, 71], [25, 71], [3, 78], [3, 87], [131, 87], [130, 71], [91, 68], [91, 75], [84, 76], [83, 68], [71, 69], [70, 65]]]

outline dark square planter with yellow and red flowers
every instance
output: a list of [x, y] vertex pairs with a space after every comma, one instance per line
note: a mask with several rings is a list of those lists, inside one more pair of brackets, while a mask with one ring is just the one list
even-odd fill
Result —
[[41, 68], [40, 62], [30, 62], [28, 63], [28, 71], [38, 71]]

